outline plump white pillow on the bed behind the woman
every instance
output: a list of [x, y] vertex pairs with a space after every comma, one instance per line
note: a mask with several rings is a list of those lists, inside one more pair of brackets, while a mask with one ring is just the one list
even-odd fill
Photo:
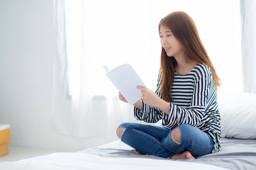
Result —
[[218, 95], [221, 137], [256, 139], [256, 94]]

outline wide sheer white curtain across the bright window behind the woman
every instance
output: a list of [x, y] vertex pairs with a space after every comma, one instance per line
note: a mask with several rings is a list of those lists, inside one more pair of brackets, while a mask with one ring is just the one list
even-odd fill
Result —
[[[119, 124], [136, 121], [133, 106], [118, 100], [102, 66], [111, 69], [130, 63], [146, 86], [155, 90], [161, 50], [158, 23], [172, 11], [185, 11], [194, 19], [222, 79], [220, 91], [242, 91], [239, 0], [54, 3], [56, 52], [62, 53], [54, 54], [54, 70], [59, 74], [54, 75], [52, 120], [63, 134], [113, 140]], [[66, 78], [68, 86], [64, 86]]]

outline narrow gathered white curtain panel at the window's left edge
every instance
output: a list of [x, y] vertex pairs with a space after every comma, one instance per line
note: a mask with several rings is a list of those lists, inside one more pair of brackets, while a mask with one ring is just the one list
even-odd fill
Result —
[[[67, 50], [65, 38], [65, 7], [63, 0], [54, 0], [54, 53], [52, 124], [59, 132], [66, 133], [70, 126], [66, 119], [72, 118], [67, 99], [70, 97], [67, 79]], [[65, 110], [65, 111], [63, 111]]]

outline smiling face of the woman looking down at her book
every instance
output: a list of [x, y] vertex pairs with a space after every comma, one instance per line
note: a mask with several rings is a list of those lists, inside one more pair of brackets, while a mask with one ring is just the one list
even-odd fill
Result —
[[160, 26], [160, 40], [167, 56], [169, 57], [184, 57], [184, 49], [182, 44], [173, 36], [172, 31], [164, 26]]

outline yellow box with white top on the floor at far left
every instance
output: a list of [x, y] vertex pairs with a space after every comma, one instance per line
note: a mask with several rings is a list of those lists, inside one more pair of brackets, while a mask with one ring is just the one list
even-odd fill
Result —
[[0, 124], [0, 156], [9, 153], [8, 141], [11, 140], [10, 125]]

